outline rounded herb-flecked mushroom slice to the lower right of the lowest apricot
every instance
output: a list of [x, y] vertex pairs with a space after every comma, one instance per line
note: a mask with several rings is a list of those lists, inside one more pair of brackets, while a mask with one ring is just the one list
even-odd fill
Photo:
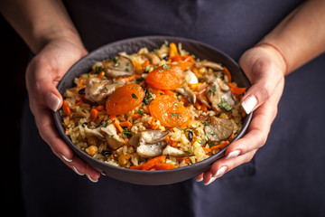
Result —
[[212, 142], [219, 142], [227, 139], [234, 131], [235, 122], [233, 119], [211, 117], [209, 125], [204, 127], [204, 131]]

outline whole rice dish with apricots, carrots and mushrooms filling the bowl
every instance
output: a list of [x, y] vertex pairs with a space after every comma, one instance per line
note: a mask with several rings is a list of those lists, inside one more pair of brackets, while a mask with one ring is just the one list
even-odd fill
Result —
[[166, 170], [198, 163], [237, 137], [246, 113], [222, 63], [181, 43], [96, 62], [63, 94], [65, 134], [109, 165]]

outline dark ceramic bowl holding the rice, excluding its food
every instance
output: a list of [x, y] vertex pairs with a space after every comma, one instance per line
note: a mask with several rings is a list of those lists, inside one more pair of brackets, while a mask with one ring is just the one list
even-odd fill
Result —
[[[102, 61], [105, 59], [116, 56], [118, 52], [133, 53], [137, 52], [142, 47], [147, 47], [150, 51], [159, 48], [163, 42], [181, 42], [182, 48], [190, 53], [195, 54], [200, 59], [207, 59], [209, 61], [221, 62], [228, 67], [232, 73], [232, 78], [237, 82], [239, 87], [249, 87], [249, 81], [246, 79], [245, 74], [240, 70], [236, 61], [233, 61], [227, 54], [218, 51], [202, 42], [196, 42], [189, 39], [169, 37], [169, 36], [146, 36], [126, 39], [123, 41], [109, 43], [103, 47], [98, 48], [94, 52], [90, 52], [86, 57], [82, 58], [76, 64], [74, 64], [65, 76], [60, 80], [58, 90], [60, 94], [63, 94], [65, 90], [73, 87], [74, 78], [78, 77], [82, 73], [88, 73], [91, 70], [91, 66], [96, 61]], [[79, 148], [72, 144], [70, 137], [66, 136], [64, 129], [61, 126], [62, 118], [60, 118], [59, 112], [54, 112], [55, 125], [59, 130], [60, 136], [64, 141], [72, 148], [74, 153], [83, 159], [88, 165], [97, 169], [100, 173], [104, 173], [112, 178], [120, 181], [124, 181], [132, 184], [147, 184], [147, 185], [159, 185], [159, 184], [173, 184], [184, 180], [188, 180], [191, 177], [200, 175], [204, 171], [209, 170], [210, 165], [225, 155], [226, 148], [221, 150], [218, 154], [209, 157], [194, 165], [188, 165], [181, 168], [164, 171], [139, 171], [125, 169], [114, 165], [107, 165], [97, 159], [88, 156], [86, 153], [79, 150]], [[235, 138], [243, 137], [246, 128], [251, 120], [252, 115], [246, 116], [244, 119], [244, 127], [239, 135]]]

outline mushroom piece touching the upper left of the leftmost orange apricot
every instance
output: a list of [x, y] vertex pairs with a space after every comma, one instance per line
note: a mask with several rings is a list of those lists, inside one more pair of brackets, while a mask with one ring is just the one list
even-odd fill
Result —
[[105, 105], [108, 96], [119, 86], [122, 86], [122, 84], [113, 83], [112, 80], [90, 78], [86, 82], [85, 98], [91, 102]]

